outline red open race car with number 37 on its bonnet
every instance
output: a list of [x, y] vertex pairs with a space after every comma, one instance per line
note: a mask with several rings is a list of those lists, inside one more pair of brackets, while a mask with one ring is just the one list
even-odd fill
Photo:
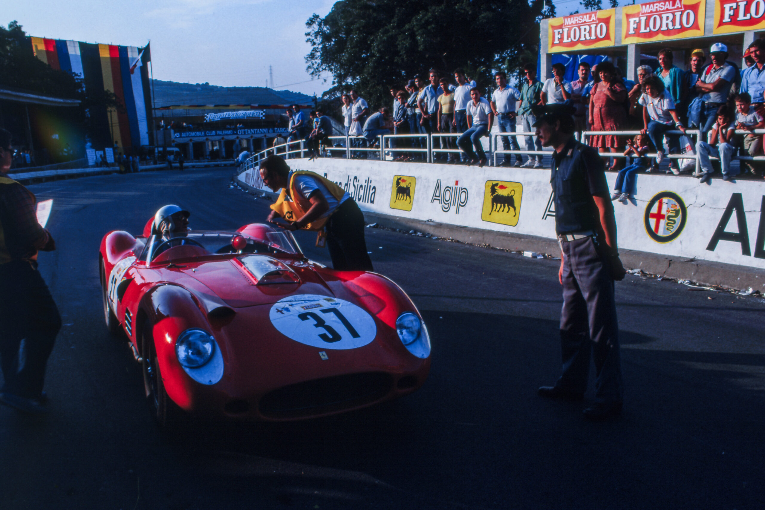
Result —
[[106, 326], [127, 333], [161, 424], [337, 414], [428, 377], [428, 330], [388, 278], [310, 261], [268, 225], [163, 241], [153, 223], [106, 234], [99, 261]]

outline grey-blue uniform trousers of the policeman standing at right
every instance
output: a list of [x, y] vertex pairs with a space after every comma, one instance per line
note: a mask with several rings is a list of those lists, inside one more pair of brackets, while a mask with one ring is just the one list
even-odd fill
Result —
[[563, 375], [557, 386], [587, 389], [590, 357], [595, 365], [595, 400], [620, 402], [623, 395], [614, 280], [592, 236], [561, 242]]

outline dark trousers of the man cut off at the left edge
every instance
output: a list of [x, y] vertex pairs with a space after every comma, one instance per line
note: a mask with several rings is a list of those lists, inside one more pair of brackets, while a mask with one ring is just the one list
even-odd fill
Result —
[[47, 359], [60, 329], [58, 308], [40, 271], [27, 261], [0, 265], [3, 393], [40, 397]]

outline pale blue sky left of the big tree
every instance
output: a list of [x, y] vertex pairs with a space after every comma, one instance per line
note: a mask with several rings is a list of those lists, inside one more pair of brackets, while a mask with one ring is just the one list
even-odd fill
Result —
[[[305, 21], [334, 0], [67, 0], [3, 2], [0, 23], [17, 20], [29, 35], [144, 46], [151, 40], [154, 77], [221, 86], [265, 86], [313, 95], [330, 76], [311, 80], [304, 57]], [[308, 83], [304, 83], [308, 82]], [[280, 87], [282, 86], [282, 87]]]

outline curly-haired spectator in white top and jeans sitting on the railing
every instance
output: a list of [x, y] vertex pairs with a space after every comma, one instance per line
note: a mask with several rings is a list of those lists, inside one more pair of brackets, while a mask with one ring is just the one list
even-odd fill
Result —
[[[677, 116], [672, 96], [664, 88], [664, 83], [659, 76], [655, 74], [646, 76], [643, 80], [643, 90], [645, 92], [637, 100], [638, 104], [643, 106], [643, 125], [645, 127], [641, 132], [643, 135], [647, 134], [653, 146], [656, 147], [656, 163], [659, 164], [664, 158], [664, 144], [662, 143], [664, 133], [675, 128], [675, 125], [685, 133], [685, 127]], [[680, 152], [679, 139], [676, 135], [667, 135], [667, 142], [669, 154]], [[677, 160], [670, 161], [669, 168], [672, 174], [680, 173]]]

